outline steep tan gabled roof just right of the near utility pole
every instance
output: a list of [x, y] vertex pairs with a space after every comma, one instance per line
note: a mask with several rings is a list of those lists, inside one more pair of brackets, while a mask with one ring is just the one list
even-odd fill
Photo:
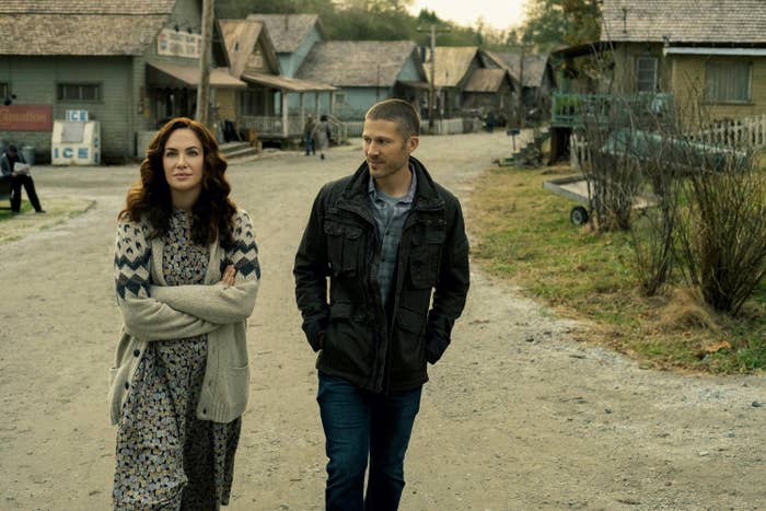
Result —
[[240, 77], [247, 69], [247, 61], [258, 40], [263, 42], [268, 67], [279, 72], [279, 59], [263, 22], [255, 20], [219, 20], [223, 43], [229, 54], [231, 73]]

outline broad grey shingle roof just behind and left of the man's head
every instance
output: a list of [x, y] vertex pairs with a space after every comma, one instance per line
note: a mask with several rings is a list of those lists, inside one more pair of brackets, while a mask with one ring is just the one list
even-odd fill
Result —
[[336, 86], [392, 86], [410, 57], [422, 69], [411, 40], [327, 40], [314, 45], [295, 77]]

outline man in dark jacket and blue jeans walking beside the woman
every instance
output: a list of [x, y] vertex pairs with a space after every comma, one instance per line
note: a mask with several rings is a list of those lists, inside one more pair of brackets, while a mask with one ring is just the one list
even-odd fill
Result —
[[398, 508], [427, 362], [449, 346], [468, 292], [461, 206], [410, 155], [419, 128], [407, 102], [368, 111], [365, 161], [320, 190], [295, 255], [303, 330], [320, 353], [330, 511]]

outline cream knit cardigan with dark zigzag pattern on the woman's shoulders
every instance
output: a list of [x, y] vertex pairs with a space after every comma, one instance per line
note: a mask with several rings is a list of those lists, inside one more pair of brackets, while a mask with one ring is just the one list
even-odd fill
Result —
[[[109, 418], [119, 422], [138, 362], [152, 340], [208, 336], [208, 359], [196, 415], [230, 422], [247, 405], [249, 369], [247, 317], [260, 279], [253, 223], [244, 210], [234, 218], [234, 246], [210, 245], [205, 284], [167, 286], [162, 275], [163, 240], [148, 239], [149, 225], [120, 220], [115, 244], [115, 284], [123, 314], [115, 364], [111, 369]], [[235, 283], [220, 283], [233, 264]]]

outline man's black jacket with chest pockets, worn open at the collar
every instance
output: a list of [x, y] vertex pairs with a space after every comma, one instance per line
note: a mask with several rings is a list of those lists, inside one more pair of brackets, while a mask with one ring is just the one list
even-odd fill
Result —
[[446, 349], [468, 292], [460, 202], [419, 161], [410, 156], [410, 163], [417, 189], [402, 232], [388, 313], [378, 288], [380, 242], [367, 163], [320, 190], [293, 268], [303, 330], [321, 350], [317, 369], [376, 393], [428, 381], [426, 362], [434, 363]]

